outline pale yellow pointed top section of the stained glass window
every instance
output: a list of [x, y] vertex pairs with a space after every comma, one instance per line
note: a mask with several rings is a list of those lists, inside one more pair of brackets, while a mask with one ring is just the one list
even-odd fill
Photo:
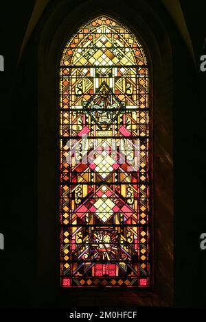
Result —
[[63, 66], [102, 64], [146, 66], [146, 56], [137, 38], [122, 24], [105, 15], [79, 29], [67, 42], [61, 61]]

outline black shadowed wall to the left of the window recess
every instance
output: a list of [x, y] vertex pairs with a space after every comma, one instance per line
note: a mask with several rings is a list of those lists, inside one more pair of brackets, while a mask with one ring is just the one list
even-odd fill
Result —
[[[30, 303], [34, 288], [35, 106], [30, 108], [24, 98], [24, 72], [19, 73], [19, 81], [15, 80], [34, 2], [30, 0], [25, 5], [25, 1], [15, 1], [11, 5], [1, 1], [0, 6], [0, 51], [5, 59], [5, 71], [0, 73], [0, 231], [5, 236], [5, 250], [0, 253], [0, 306]], [[34, 87], [28, 86], [28, 90], [31, 93]]]

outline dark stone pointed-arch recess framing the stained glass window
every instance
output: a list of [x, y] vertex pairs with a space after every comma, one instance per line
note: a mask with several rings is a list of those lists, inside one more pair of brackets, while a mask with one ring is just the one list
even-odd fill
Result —
[[[154, 210], [152, 249], [152, 277], [151, 296], [155, 293], [167, 303], [172, 303], [173, 292], [173, 192], [172, 192], [172, 109], [173, 109], [173, 74], [172, 48], [170, 35], [163, 23], [157, 19], [155, 11], [146, 1], [139, 0], [141, 9], [131, 10], [130, 6], [122, 2], [122, 7], [107, 1], [107, 8], [100, 7], [93, 1], [93, 10], [88, 3], [73, 5], [68, 10], [67, 2], [50, 8], [48, 16], [41, 29], [38, 46], [38, 288], [39, 296], [44, 295], [49, 301], [57, 299], [65, 305], [71, 303], [71, 294], [84, 301], [95, 301], [90, 293], [91, 287], [71, 288], [60, 287], [60, 253], [57, 245], [60, 242], [59, 227], [59, 123], [60, 123], [60, 91], [59, 71], [62, 52], [68, 40], [76, 34], [81, 25], [101, 16], [112, 16], [128, 26], [135, 38], [144, 47], [150, 71], [150, 128], [155, 134], [151, 140], [150, 160], [151, 179], [151, 207]], [[77, 18], [78, 17], [78, 18]], [[174, 49], [176, 47], [174, 46]], [[170, 97], [170, 99], [168, 99]], [[45, 127], [45, 124], [47, 125]], [[56, 144], [54, 144], [56, 143]], [[45, 180], [45, 169], [49, 175], [49, 182]], [[167, 180], [163, 178], [167, 177]], [[54, 188], [55, 187], [55, 188]], [[47, 240], [47, 243], [45, 243]], [[49, 271], [48, 271], [49, 267]], [[102, 288], [103, 289], [103, 288]], [[97, 294], [107, 301], [107, 292], [96, 288]], [[121, 288], [122, 289], [122, 288]], [[146, 289], [146, 288], [144, 288]], [[115, 288], [114, 292], [116, 292]], [[133, 293], [134, 288], [124, 288], [126, 293]], [[105, 296], [104, 296], [105, 294]], [[126, 297], [124, 298], [126, 301]], [[155, 299], [155, 298], [154, 298]], [[81, 300], [80, 300], [81, 301]], [[113, 303], [115, 297], [113, 297]], [[129, 298], [128, 298], [129, 301]], [[148, 305], [150, 297], [143, 301], [135, 297], [135, 301]], [[156, 301], [156, 300], [155, 300]]]

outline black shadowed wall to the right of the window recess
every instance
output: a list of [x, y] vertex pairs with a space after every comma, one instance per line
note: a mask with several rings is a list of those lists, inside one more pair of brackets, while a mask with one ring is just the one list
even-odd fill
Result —
[[[187, 95], [180, 95], [175, 124], [181, 136], [181, 149], [176, 151], [176, 303], [180, 306], [206, 306], [206, 253], [199, 246], [200, 235], [206, 232], [205, 220], [205, 88], [206, 73], [200, 71], [204, 54], [205, 1], [181, 0], [190, 34], [196, 68], [190, 69], [190, 58], [176, 58], [176, 66], [187, 75]], [[179, 86], [182, 87], [179, 77]], [[190, 90], [189, 90], [190, 88]], [[197, 192], [197, 194], [196, 194]], [[181, 249], [179, 247], [181, 246]]]

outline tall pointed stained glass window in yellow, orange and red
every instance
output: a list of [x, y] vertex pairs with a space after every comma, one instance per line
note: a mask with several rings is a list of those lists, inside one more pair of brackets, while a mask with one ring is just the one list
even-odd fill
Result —
[[148, 67], [121, 23], [100, 16], [60, 62], [62, 287], [147, 288], [150, 276]]

